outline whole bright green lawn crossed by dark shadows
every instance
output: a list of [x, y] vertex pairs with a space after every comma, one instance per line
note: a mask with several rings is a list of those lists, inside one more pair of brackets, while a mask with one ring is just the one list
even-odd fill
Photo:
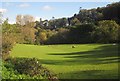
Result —
[[11, 56], [39, 58], [60, 79], [118, 78], [118, 45], [25, 45], [17, 44]]

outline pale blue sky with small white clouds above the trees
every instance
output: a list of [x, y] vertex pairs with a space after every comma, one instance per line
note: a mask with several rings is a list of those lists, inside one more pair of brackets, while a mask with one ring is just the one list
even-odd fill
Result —
[[8, 18], [9, 23], [15, 23], [16, 16], [32, 15], [35, 20], [71, 17], [79, 12], [79, 8], [91, 9], [105, 7], [112, 2], [2, 2], [0, 12], [3, 19]]

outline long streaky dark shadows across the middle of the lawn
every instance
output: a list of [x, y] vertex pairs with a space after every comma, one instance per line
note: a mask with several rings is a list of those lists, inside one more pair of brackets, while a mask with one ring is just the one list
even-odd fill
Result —
[[[72, 49], [72, 48], [71, 48]], [[44, 60], [43, 64], [51, 65], [76, 65], [76, 64], [108, 64], [118, 63], [118, 45], [107, 45], [95, 48], [90, 51], [72, 52], [72, 53], [50, 53], [48, 55], [60, 55], [63, 58], [72, 58], [71, 60]]]

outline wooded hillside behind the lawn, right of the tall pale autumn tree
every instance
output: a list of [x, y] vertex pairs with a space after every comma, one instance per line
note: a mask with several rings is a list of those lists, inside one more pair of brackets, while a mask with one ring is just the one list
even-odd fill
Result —
[[[43, 34], [40, 31], [41, 36], [38, 34], [36, 41], [38, 40], [39, 44], [119, 43], [119, 4], [120, 2], [117, 2], [96, 9], [80, 9], [78, 14], [70, 18], [46, 20], [48, 26], [39, 25], [38, 28], [45, 32]], [[61, 27], [68, 31], [61, 33], [58, 31]]]

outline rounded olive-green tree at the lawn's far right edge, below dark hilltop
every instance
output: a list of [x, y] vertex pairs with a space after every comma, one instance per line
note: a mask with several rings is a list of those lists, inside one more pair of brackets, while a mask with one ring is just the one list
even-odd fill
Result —
[[113, 20], [99, 21], [94, 31], [94, 40], [101, 43], [113, 43], [118, 41], [120, 26]]

